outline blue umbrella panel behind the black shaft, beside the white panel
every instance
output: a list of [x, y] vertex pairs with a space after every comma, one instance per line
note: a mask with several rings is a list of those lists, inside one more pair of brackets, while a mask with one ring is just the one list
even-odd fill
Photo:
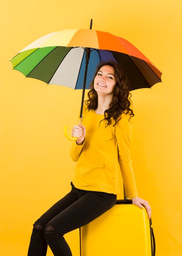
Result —
[[[91, 83], [92, 79], [94, 78], [95, 70], [96, 70], [96, 67], [99, 64], [99, 62], [100, 62], [99, 52], [94, 49], [90, 52], [90, 59], [89, 59], [89, 63], [88, 63], [87, 79], [86, 79], [86, 89], [89, 89], [89, 87], [90, 87], [90, 83]], [[75, 89], [83, 89], [85, 66], [86, 66], [86, 52], [83, 55], [83, 60], [81, 63], [79, 76], [78, 76], [78, 80], [77, 80]]]

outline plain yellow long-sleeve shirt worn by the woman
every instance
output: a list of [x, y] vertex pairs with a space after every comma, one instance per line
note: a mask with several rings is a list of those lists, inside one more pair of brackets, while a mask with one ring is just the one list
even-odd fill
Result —
[[[77, 161], [73, 184], [78, 189], [119, 193], [118, 171], [121, 170], [127, 198], [137, 196], [136, 182], [130, 159], [132, 126], [123, 113], [114, 126], [105, 128], [104, 115], [93, 110], [83, 111], [86, 136], [82, 145], [74, 141], [70, 148], [73, 161]], [[101, 121], [101, 123], [100, 123]], [[100, 126], [99, 126], [100, 123]]]

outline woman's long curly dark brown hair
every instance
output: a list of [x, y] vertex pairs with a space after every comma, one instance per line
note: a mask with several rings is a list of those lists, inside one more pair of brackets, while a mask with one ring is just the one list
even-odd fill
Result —
[[[108, 65], [114, 68], [114, 77], [116, 80], [116, 85], [113, 90], [112, 101], [109, 105], [109, 109], [104, 112], [104, 119], [107, 121], [106, 126], [111, 125], [114, 120], [114, 125], [121, 119], [121, 114], [125, 112], [130, 115], [129, 119], [134, 116], [133, 110], [129, 108], [131, 106], [131, 96], [129, 92], [129, 86], [127, 85], [126, 76], [121, 69], [121, 67], [114, 61], [100, 62], [96, 68], [95, 76], [101, 69], [101, 67]], [[88, 100], [85, 101], [88, 111], [96, 110], [98, 106], [98, 94], [94, 89], [94, 79], [90, 83], [90, 91], [88, 92]], [[102, 120], [102, 121], [103, 121]]]

